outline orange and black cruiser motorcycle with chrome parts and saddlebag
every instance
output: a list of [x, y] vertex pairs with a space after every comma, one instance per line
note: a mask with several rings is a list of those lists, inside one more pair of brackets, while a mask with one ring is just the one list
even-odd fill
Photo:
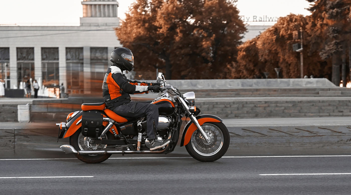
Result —
[[61, 122], [59, 138], [69, 138], [69, 145], [60, 148], [74, 154], [86, 163], [100, 163], [112, 154], [167, 154], [174, 150], [179, 139], [183, 117], [189, 117], [181, 137], [180, 146], [196, 160], [212, 162], [227, 151], [230, 136], [223, 120], [210, 114], [199, 115], [195, 106], [195, 93], [180, 91], [166, 80], [162, 73], [157, 82], [161, 92], [151, 104], [158, 106], [157, 139], [170, 139], [163, 148], [150, 151], [146, 135], [146, 117], [127, 118], [105, 107], [105, 103], [82, 104], [81, 111], [69, 113], [67, 123]]

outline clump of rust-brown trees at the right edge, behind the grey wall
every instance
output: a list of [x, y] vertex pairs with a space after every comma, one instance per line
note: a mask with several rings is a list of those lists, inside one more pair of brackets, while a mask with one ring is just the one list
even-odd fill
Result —
[[342, 64], [339, 59], [343, 59], [346, 75], [346, 48], [343, 44], [350, 38], [351, 25], [347, 21], [350, 20], [351, 0], [308, 1], [313, 3], [309, 8], [310, 16], [290, 14], [279, 18], [274, 26], [239, 46], [237, 63], [230, 66], [233, 71], [229, 77], [255, 78], [269, 72], [274, 78], [274, 68], [282, 68], [283, 78], [299, 78], [299, 53], [292, 50], [292, 44], [298, 41], [293, 40], [292, 32], [302, 28], [304, 75], [332, 78], [338, 85], [338, 68]]

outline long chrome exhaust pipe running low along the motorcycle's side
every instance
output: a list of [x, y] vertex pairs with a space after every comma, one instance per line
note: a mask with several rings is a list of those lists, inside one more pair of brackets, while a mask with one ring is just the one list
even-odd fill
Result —
[[112, 151], [112, 150], [94, 150], [94, 151], [84, 151], [80, 150], [77, 151], [74, 149], [73, 146], [65, 144], [60, 146], [60, 148], [66, 153], [66, 154], [78, 154], [78, 155], [88, 155], [88, 154], [159, 154], [167, 151], [168, 147], [170, 144], [168, 144], [165, 149], [161, 151], [131, 151], [131, 150], [126, 150], [126, 151]]

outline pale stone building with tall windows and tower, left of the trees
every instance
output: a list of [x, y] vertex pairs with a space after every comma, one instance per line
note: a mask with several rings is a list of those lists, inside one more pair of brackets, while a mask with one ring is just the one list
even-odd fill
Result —
[[[67, 93], [101, 93], [111, 51], [120, 47], [116, 0], [84, 0], [80, 26], [0, 26], [0, 79], [16, 89], [29, 78]], [[39, 83], [39, 84], [41, 84]]]

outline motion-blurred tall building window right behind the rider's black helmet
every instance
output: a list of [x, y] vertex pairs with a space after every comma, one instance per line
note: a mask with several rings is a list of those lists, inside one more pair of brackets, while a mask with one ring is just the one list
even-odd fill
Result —
[[108, 67], [107, 47], [90, 48], [91, 92], [102, 93], [102, 82]]

